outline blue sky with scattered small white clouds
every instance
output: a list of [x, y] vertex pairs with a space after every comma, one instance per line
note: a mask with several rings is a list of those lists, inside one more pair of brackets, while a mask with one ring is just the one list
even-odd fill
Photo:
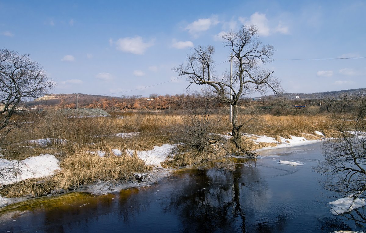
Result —
[[[0, 1], [0, 10], [0, 47], [40, 62], [53, 93], [184, 93], [189, 83], [172, 68], [190, 48], [214, 45], [224, 62], [230, 51], [218, 36], [249, 23], [276, 48], [273, 59], [366, 57], [366, 1]], [[366, 59], [266, 67], [286, 92], [366, 88]]]

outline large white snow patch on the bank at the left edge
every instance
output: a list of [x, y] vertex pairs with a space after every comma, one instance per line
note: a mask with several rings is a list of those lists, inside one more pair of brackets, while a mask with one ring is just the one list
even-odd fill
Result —
[[24, 160], [0, 159], [0, 170], [9, 169], [7, 177], [0, 179], [1, 185], [13, 184], [29, 178], [48, 177], [55, 174], [59, 167], [59, 160], [50, 154], [41, 154]]

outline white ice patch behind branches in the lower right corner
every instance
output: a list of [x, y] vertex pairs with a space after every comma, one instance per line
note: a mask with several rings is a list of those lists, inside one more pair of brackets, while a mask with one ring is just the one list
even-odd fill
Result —
[[366, 201], [362, 198], [343, 197], [335, 201], [331, 201], [328, 204], [332, 205], [330, 212], [333, 215], [343, 214], [356, 208], [366, 206]]

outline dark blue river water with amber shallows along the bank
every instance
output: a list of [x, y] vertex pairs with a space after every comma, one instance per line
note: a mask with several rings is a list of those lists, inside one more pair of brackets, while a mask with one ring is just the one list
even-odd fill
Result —
[[[312, 168], [321, 143], [259, 153], [235, 171], [183, 169], [158, 184], [108, 195], [73, 192], [0, 209], [0, 232], [332, 232], [361, 230], [333, 216]], [[297, 160], [303, 166], [277, 163]], [[363, 213], [363, 208], [358, 209]]]

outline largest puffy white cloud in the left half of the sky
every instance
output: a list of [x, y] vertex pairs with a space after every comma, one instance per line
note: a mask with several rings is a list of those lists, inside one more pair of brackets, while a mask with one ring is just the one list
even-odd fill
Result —
[[[111, 43], [111, 40], [109, 40]], [[143, 54], [145, 53], [146, 49], [153, 46], [154, 42], [143, 42], [141, 36], [136, 37], [126, 37], [126, 38], [119, 38], [115, 44], [117, 45], [117, 49], [123, 52], [130, 52], [134, 54]]]

